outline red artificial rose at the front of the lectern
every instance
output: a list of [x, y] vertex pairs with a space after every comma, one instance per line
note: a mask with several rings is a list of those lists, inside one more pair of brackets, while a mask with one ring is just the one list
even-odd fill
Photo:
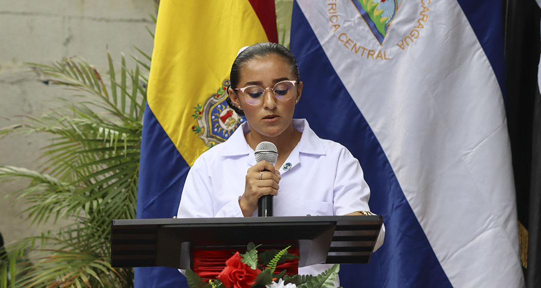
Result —
[[261, 270], [253, 270], [250, 266], [241, 262], [242, 257], [236, 252], [226, 261], [226, 267], [218, 275], [218, 279], [226, 288], [249, 288], [254, 285], [255, 278]]

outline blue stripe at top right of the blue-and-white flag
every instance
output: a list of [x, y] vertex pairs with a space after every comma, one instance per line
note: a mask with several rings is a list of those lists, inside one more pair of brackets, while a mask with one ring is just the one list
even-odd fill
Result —
[[502, 2], [458, 0], [458, 4], [489, 58], [506, 103]]

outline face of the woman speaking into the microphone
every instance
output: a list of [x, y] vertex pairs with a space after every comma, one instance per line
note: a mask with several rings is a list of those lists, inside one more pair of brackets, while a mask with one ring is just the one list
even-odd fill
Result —
[[[278, 55], [269, 55], [265, 58], [255, 57], [244, 63], [240, 69], [240, 81], [238, 88], [250, 85], [258, 85], [266, 89], [261, 103], [250, 105], [246, 103], [242, 92], [239, 90], [229, 91], [229, 97], [236, 106], [244, 110], [250, 131], [256, 132], [264, 138], [280, 136], [286, 129], [292, 128], [295, 101], [301, 97], [302, 82], [295, 84], [293, 96], [287, 101], [281, 101], [274, 97], [272, 89], [278, 82], [293, 80], [296, 78], [291, 72], [289, 64]], [[233, 92], [233, 93], [232, 93]]]

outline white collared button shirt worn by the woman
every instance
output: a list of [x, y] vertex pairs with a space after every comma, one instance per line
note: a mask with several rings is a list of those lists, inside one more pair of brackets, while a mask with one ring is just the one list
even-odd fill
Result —
[[[273, 198], [273, 215], [331, 216], [370, 211], [370, 188], [359, 161], [341, 144], [315, 135], [305, 119], [293, 119], [293, 128], [302, 136], [280, 167], [282, 178], [278, 195]], [[246, 173], [256, 164], [254, 150], [246, 142], [248, 132], [245, 122], [226, 142], [195, 160], [184, 183], [177, 218], [243, 217], [239, 199]], [[252, 216], [257, 215], [256, 210]], [[375, 249], [383, 243], [384, 235], [382, 226]]]

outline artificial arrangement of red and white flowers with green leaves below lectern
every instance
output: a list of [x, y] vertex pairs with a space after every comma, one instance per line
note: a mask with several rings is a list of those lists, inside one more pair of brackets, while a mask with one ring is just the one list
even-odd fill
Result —
[[[281, 251], [268, 250], [258, 254], [254, 243], [248, 244], [246, 253], [236, 252], [226, 261], [226, 267], [217, 279], [205, 282], [193, 270], [186, 270], [190, 288], [333, 288], [340, 270], [339, 264], [322, 272], [318, 276], [299, 275], [289, 276], [286, 270], [274, 274], [276, 265], [285, 260], [298, 256], [290, 254], [286, 249]], [[339, 287], [341, 288], [341, 287]]]

